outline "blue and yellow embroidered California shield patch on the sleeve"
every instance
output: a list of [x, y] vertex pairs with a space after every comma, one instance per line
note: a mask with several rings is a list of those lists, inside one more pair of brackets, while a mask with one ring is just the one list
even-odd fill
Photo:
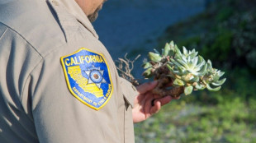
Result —
[[96, 110], [107, 104], [113, 85], [109, 67], [102, 54], [80, 48], [60, 59], [72, 95]]

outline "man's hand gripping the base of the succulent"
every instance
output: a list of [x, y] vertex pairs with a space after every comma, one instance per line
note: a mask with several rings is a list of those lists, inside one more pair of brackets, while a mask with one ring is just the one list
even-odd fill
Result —
[[159, 95], [151, 93], [151, 90], [157, 84], [157, 81], [153, 81], [137, 86], [139, 95], [135, 96], [134, 108], [132, 109], [133, 122], [144, 121], [154, 113], [158, 113], [161, 106], [168, 104], [172, 100], [171, 96], [161, 98]]

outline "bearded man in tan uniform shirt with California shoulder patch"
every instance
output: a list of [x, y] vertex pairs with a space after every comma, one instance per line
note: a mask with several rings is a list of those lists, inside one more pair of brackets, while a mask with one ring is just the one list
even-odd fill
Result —
[[91, 23], [105, 1], [0, 2], [0, 142], [130, 143], [171, 101], [118, 76]]

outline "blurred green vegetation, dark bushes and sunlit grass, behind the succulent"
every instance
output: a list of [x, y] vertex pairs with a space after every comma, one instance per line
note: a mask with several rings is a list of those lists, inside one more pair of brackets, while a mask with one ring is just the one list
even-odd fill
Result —
[[206, 12], [170, 26], [159, 38], [196, 48], [225, 71], [218, 92], [193, 92], [135, 124], [137, 143], [256, 142], [256, 2], [213, 2]]

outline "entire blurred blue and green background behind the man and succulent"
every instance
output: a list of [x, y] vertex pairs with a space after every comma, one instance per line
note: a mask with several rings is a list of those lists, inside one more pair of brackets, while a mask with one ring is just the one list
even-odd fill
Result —
[[[193, 92], [135, 124], [136, 143], [256, 142], [255, 0], [109, 0], [93, 23], [114, 60], [133, 72], [153, 48], [174, 40], [225, 71], [218, 92]], [[138, 70], [137, 70], [138, 69]]]

